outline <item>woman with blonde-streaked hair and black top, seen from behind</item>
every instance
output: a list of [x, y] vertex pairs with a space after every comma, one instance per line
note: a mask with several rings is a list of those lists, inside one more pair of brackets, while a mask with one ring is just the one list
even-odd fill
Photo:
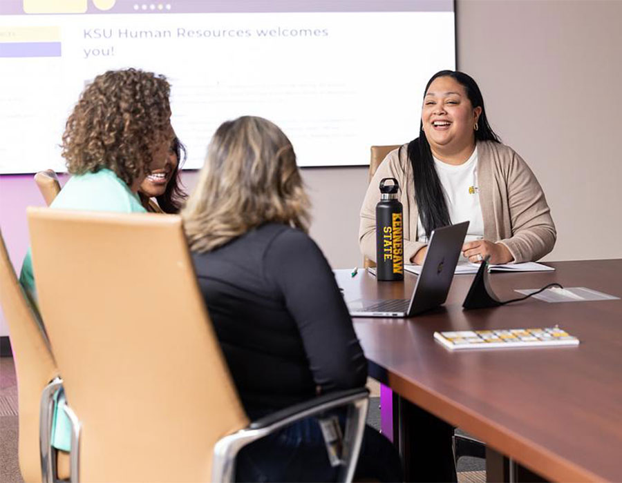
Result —
[[[307, 235], [309, 201], [288, 138], [241, 117], [216, 130], [182, 210], [198, 282], [251, 419], [364, 386], [367, 361], [332, 270]], [[330, 481], [315, 418], [247, 446], [239, 481]], [[367, 427], [357, 476], [401, 480], [393, 446]]]

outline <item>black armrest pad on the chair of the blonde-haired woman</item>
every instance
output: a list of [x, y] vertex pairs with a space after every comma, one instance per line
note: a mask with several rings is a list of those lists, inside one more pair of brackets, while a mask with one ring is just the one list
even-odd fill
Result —
[[289, 406], [288, 408], [276, 411], [276, 413], [264, 416], [261, 419], [251, 422], [247, 429], [267, 428], [279, 422], [288, 421], [283, 424], [283, 426], [285, 426], [286, 424], [291, 424], [294, 421], [301, 420], [310, 415], [322, 413], [323, 411], [328, 411], [328, 409], [337, 408], [339, 406], [346, 406], [346, 404], [350, 404], [359, 399], [365, 399], [368, 395], [369, 391], [367, 388], [335, 391], [334, 393], [314, 397], [312, 400], [294, 404], [294, 406]]

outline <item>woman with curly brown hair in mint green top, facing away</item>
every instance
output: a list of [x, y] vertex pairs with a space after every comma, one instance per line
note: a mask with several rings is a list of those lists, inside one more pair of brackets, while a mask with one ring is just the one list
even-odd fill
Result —
[[[170, 90], [165, 77], [142, 70], [95, 77], [67, 119], [62, 155], [73, 176], [50, 207], [144, 213], [138, 189], [165, 166], [175, 137]], [[30, 250], [20, 282], [36, 300]]]

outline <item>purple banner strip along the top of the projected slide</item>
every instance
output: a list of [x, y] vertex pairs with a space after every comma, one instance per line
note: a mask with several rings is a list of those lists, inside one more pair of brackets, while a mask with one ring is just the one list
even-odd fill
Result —
[[[116, 0], [109, 10], [86, 0], [87, 14], [261, 13], [261, 12], [453, 12], [453, 0]], [[63, 14], [62, 3], [50, 11]], [[51, 11], [54, 10], [54, 11]], [[0, 14], [24, 14], [23, 0], [1, 0]]]

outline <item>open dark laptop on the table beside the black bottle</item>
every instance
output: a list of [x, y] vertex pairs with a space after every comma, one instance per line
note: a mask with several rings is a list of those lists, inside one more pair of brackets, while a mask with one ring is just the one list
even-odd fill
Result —
[[355, 300], [347, 304], [350, 315], [412, 317], [444, 304], [468, 227], [469, 221], [464, 221], [432, 232], [421, 275], [410, 299]]

